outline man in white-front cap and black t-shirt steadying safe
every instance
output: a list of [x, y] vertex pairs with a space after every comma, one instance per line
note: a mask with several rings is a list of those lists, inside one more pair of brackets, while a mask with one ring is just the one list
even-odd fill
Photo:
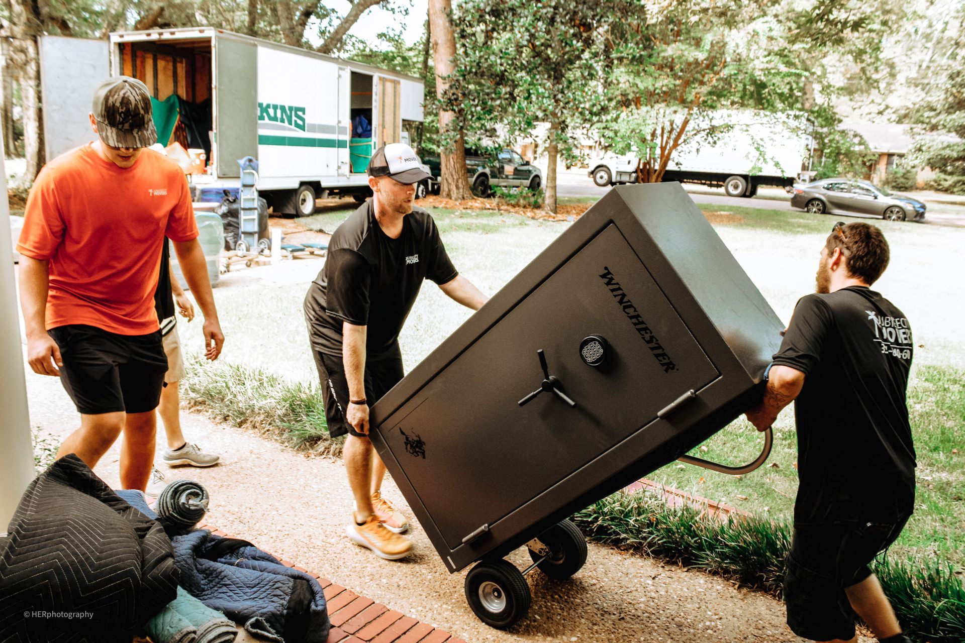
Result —
[[305, 296], [305, 319], [325, 400], [328, 432], [348, 434], [345, 469], [355, 499], [348, 537], [396, 560], [412, 543], [408, 521], [381, 496], [385, 466], [369, 442], [369, 407], [402, 379], [399, 334], [426, 279], [459, 304], [486, 302], [449, 260], [428, 212], [414, 208], [429, 177], [411, 147], [379, 147], [369, 162], [372, 199], [335, 230]]

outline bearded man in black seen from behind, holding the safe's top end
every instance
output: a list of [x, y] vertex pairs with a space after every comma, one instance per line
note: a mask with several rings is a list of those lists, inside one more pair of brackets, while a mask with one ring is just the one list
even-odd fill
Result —
[[874, 226], [832, 229], [817, 293], [794, 308], [763, 399], [747, 413], [763, 431], [795, 402], [800, 487], [786, 561], [787, 625], [815, 641], [856, 641], [856, 613], [883, 643], [908, 641], [869, 569], [915, 500], [905, 404], [911, 327], [869, 288], [889, 255]]

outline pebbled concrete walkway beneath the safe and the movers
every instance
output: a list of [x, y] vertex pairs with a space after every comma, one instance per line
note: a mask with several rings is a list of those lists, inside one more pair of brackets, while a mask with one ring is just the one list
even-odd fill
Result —
[[[41, 436], [60, 439], [78, 424], [55, 378], [28, 373], [27, 387], [31, 424]], [[251, 432], [214, 424], [202, 415], [183, 412], [182, 422], [187, 439], [220, 453], [222, 464], [211, 469], [162, 470], [169, 480], [192, 478], [207, 487], [211, 497], [207, 524], [330, 578], [337, 588], [345, 588], [340, 590], [347, 592], [342, 601], [352, 599], [353, 608], [363, 603], [368, 608], [366, 602], [372, 600], [384, 605], [386, 614], [393, 610], [391, 617], [400, 614], [400, 626], [424, 622], [442, 630], [430, 635], [431, 626], [416, 630], [412, 625], [407, 636], [399, 639], [405, 643], [442, 643], [449, 632], [455, 639], [452, 643], [459, 639], [473, 643], [802, 640], [787, 630], [782, 603], [715, 576], [595, 544], [590, 544], [586, 567], [569, 581], [538, 573], [527, 576], [533, 590], [529, 616], [509, 632], [489, 629], [465, 602], [464, 575], [447, 573], [418, 525], [410, 532], [415, 552], [399, 562], [380, 560], [345, 537], [351, 499], [341, 462], [306, 457]], [[158, 449], [162, 447], [158, 442]], [[118, 484], [119, 453], [115, 446], [96, 467], [111, 485]], [[385, 495], [407, 509], [390, 480]], [[529, 563], [523, 550], [513, 552], [510, 560], [520, 568]], [[358, 603], [356, 595], [368, 599]], [[332, 606], [337, 601], [334, 597]], [[391, 617], [384, 617], [383, 623]], [[358, 620], [349, 627], [357, 624]]]

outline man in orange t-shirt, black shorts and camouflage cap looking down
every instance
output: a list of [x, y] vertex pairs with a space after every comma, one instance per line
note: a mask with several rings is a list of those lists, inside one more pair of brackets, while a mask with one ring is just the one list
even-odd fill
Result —
[[145, 149], [157, 140], [148, 88], [104, 81], [90, 120], [97, 140], [50, 161], [27, 200], [16, 246], [27, 359], [60, 377], [80, 412], [57, 457], [75, 453], [93, 469], [124, 430], [121, 484], [144, 491], [168, 367], [154, 310], [165, 237], [205, 314], [208, 360], [224, 335], [187, 181]]

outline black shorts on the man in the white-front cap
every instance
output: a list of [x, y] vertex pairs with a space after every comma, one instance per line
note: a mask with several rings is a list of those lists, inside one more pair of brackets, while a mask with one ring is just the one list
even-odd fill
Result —
[[[321, 395], [325, 400], [325, 419], [328, 422], [328, 435], [332, 438], [344, 436], [346, 433], [365, 438], [358, 433], [345, 419], [345, 409], [348, 407], [348, 381], [345, 380], [345, 366], [341, 357], [335, 357], [312, 349], [315, 355], [315, 366], [318, 369], [318, 380], [321, 383]], [[382, 395], [389, 392], [402, 379], [401, 358], [389, 358], [378, 362], [365, 364], [365, 398], [371, 407]]]

